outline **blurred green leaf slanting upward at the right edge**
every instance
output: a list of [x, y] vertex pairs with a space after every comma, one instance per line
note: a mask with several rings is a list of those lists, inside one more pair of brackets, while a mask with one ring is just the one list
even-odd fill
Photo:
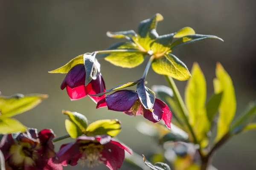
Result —
[[231, 127], [231, 132], [237, 133], [243, 130], [248, 123], [250, 123], [256, 116], [256, 102], [250, 103], [246, 111], [239, 117], [239, 119]]

